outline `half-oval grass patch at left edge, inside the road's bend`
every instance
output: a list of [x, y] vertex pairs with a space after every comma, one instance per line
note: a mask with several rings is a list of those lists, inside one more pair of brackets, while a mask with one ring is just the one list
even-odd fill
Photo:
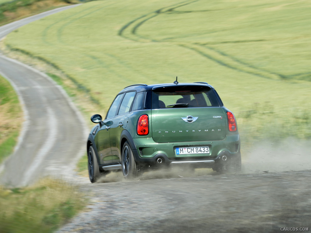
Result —
[[16, 145], [23, 112], [10, 83], [0, 76], [0, 164]]

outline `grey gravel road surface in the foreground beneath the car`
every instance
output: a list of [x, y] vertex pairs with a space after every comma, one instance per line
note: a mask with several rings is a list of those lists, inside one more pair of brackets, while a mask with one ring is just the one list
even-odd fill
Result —
[[84, 180], [80, 190], [91, 204], [58, 232], [311, 231], [311, 171], [208, 175], [198, 170], [174, 173], [178, 178], [158, 179], [173, 173], [157, 171], [132, 181], [119, 181], [119, 173], [95, 184]]

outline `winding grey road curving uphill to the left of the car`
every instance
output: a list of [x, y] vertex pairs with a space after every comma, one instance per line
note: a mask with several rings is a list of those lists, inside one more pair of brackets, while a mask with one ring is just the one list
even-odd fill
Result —
[[[0, 39], [22, 25], [75, 6], [1, 26]], [[15, 152], [0, 166], [0, 182], [26, 186], [50, 174], [70, 179], [75, 162], [85, 154], [87, 130], [80, 113], [48, 76], [1, 54], [0, 74], [15, 88], [25, 116]]]

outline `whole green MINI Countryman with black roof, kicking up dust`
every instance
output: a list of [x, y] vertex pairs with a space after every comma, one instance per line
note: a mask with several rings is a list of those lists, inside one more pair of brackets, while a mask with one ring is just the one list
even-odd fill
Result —
[[114, 99], [87, 140], [91, 182], [111, 170], [135, 177], [147, 168], [241, 169], [240, 137], [232, 112], [205, 82], [136, 84]]

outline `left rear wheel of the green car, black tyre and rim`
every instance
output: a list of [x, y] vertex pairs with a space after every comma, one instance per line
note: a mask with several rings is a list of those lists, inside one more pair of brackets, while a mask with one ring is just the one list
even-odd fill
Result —
[[135, 162], [132, 148], [125, 142], [122, 149], [122, 173], [126, 178], [139, 176], [141, 167]]

